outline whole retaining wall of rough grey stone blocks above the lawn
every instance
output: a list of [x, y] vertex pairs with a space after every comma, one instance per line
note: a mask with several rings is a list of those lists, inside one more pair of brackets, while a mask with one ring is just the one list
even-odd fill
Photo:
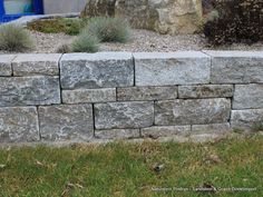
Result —
[[261, 51], [0, 56], [0, 142], [220, 135], [261, 121]]

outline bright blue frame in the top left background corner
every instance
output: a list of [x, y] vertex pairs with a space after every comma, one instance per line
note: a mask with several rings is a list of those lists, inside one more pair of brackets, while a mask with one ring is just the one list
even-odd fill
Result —
[[6, 13], [3, 1], [4, 0], [0, 0], [0, 23], [9, 22], [23, 16], [33, 16], [43, 13], [42, 0], [32, 0], [32, 4], [30, 3], [25, 6], [23, 13], [16, 13], [16, 14]]

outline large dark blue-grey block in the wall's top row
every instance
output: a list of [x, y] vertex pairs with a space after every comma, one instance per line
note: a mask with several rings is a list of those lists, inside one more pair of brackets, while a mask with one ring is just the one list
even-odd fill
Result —
[[129, 52], [68, 53], [60, 61], [64, 89], [115, 88], [134, 85]]

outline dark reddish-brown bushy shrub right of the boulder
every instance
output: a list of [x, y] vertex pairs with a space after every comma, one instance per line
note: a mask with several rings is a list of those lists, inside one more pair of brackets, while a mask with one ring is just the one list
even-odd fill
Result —
[[[262, 0], [213, 0], [216, 11], [204, 27], [212, 45], [257, 42], [263, 40]], [[215, 16], [215, 14], [214, 14]]]

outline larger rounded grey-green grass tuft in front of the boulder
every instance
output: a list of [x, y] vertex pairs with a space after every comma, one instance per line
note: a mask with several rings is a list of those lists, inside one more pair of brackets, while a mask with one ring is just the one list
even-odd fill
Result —
[[103, 42], [125, 43], [130, 39], [130, 27], [119, 18], [95, 17], [88, 21], [87, 31]]

